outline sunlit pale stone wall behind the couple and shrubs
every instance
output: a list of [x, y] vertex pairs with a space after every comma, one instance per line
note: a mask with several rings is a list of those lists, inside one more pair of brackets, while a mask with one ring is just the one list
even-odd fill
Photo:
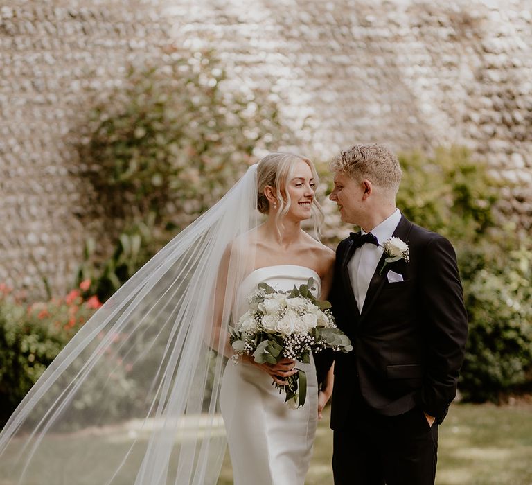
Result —
[[105, 207], [76, 144], [130, 62], [212, 46], [236, 89], [272, 86], [302, 151], [459, 143], [517, 187], [532, 220], [529, 0], [15, 0], [0, 3], [0, 281], [71, 284]]

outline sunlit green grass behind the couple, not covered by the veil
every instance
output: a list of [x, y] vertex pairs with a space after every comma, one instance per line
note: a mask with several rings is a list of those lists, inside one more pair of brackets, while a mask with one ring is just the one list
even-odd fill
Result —
[[[332, 484], [328, 418], [319, 424], [305, 485]], [[226, 455], [218, 485], [232, 483]], [[452, 405], [440, 427], [436, 484], [532, 485], [532, 405]]]

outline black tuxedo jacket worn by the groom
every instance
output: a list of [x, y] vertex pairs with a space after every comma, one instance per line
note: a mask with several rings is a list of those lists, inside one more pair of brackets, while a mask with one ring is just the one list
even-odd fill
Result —
[[[337, 326], [353, 343], [335, 355], [331, 427], [348, 426], [360, 406], [387, 416], [418, 405], [441, 423], [456, 394], [468, 332], [456, 255], [449, 241], [412, 224], [404, 215], [393, 236], [410, 248], [410, 262], [384, 255], [357, 308], [348, 262], [350, 238], [337, 248], [329, 299]], [[404, 281], [390, 283], [393, 270]]]

